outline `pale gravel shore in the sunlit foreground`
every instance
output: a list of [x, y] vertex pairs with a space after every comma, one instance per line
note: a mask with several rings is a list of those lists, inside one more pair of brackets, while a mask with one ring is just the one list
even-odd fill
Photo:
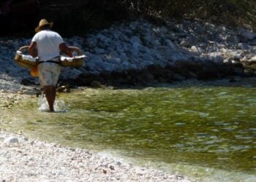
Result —
[[0, 130], [1, 181], [190, 181], [148, 167], [101, 157], [85, 149]]

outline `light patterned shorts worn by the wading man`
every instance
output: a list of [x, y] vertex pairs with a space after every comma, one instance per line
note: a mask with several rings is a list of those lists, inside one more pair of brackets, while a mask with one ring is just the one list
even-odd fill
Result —
[[42, 87], [53, 85], [56, 86], [61, 66], [56, 63], [40, 63], [38, 65], [39, 82]]

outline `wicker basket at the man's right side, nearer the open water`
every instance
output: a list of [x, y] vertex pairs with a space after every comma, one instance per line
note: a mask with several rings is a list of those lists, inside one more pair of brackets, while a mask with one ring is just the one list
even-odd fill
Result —
[[65, 58], [61, 56], [60, 58], [61, 66], [73, 67], [73, 68], [78, 68], [83, 66], [83, 61], [85, 60], [86, 56], [82, 54], [81, 50], [78, 47], [69, 47], [69, 49], [72, 52], [76, 52], [77, 56], [74, 56], [72, 58]]

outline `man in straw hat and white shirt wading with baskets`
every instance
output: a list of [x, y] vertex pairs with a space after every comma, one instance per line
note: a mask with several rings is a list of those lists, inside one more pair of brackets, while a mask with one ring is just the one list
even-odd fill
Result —
[[[45, 96], [51, 112], [54, 112], [54, 101], [56, 98], [56, 84], [61, 72], [59, 63], [60, 52], [64, 52], [69, 57], [72, 57], [72, 52], [69, 50], [63, 39], [55, 31], [51, 31], [53, 22], [48, 23], [42, 19], [37, 28], [31, 44], [29, 46], [29, 54], [34, 58], [38, 56], [38, 76], [39, 82], [45, 90]], [[36, 53], [37, 52], [37, 53]]]

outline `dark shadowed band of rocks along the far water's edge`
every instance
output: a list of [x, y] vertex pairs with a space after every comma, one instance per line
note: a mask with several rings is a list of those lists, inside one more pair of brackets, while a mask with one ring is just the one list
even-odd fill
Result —
[[175, 66], [151, 65], [141, 70], [102, 72], [80, 74], [75, 79], [61, 80], [71, 87], [141, 87], [151, 83], [173, 83], [184, 79], [222, 79], [225, 76], [244, 76], [242, 66], [220, 64], [212, 61], [178, 61]]

